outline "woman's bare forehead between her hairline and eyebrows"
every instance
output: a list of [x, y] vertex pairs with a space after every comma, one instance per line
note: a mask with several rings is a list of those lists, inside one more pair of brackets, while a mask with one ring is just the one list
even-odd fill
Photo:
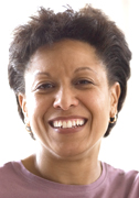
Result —
[[62, 65], [73, 68], [101, 64], [95, 47], [88, 43], [76, 40], [63, 40], [51, 46], [44, 45], [36, 50], [30, 59], [29, 67], [30, 69], [35, 69], [36, 67], [44, 69], [45, 67], [60, 68]]

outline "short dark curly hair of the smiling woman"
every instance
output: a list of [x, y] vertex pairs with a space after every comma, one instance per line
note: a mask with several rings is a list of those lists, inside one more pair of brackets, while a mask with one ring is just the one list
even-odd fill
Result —
[[[103, 11], [87, 4], [79, 11], [66, 7], [64, 12], [54, 13], [41, 7], [38, 14], [31, 16], [26, 24], [13, 31], [13, 40], [9, 51], [8, 76], [10, 87], [14, 90], [18, 111], [24, 122], [19, 105], [19, 92], [25, 94], [24, 73], [33, 53], [43, 45], [71, 38], [87, 42], [95, 47], [98, 57], [104, 62], [109, 85], [118, 81], [121, 95], [118, 112], [127, 94], [127, 80], [130, 77], [129, 62], [131, 52], [124, 33]], [[115, 124], [109, 123], [104, 136], [107, 136]]]

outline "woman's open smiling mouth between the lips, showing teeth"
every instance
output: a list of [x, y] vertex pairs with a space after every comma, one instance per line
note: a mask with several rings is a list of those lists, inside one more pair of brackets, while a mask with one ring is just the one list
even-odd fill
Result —
[[83, 127], [87, 122], [86, 119], [72, 119], [72, 120], [54, 120], [50, 124], [54, 129], [72, 129]]

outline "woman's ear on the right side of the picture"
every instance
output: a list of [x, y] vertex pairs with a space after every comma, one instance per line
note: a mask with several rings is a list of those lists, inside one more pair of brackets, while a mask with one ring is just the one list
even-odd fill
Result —
[[121, 90], [119, 82], [115, 82], [110, 88], [110, 118], [114, 118], [117, 114], [120, 92]]

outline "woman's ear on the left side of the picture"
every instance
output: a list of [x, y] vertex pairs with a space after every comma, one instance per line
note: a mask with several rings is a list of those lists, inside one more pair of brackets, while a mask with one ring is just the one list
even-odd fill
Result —
[[26, 108], [26, 97], [23, 94], [18, 95], [19, 103], [24, 114], [24, 122], [30, 125], [29, 117], [28, 117], [28, 108]]

